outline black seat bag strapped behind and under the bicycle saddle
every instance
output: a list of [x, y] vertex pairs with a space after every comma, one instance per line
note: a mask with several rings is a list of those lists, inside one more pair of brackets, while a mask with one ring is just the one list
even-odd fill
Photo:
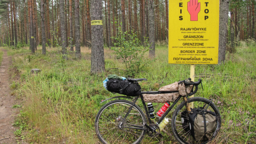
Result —
[[107, 89], [112, 93], [124, 94], [126, 96], [138, 96], [141, 87], [138, 82], [128, 80], [109, 79]]

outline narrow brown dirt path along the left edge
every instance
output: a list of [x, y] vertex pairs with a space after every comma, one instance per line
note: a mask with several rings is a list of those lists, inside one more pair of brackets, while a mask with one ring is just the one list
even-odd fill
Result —
[[[1, 50], [1, 49], [0, 49]], [[12, 126], [18, 110], [12, 108], [15, 104], [14, 96], [10, 94], [8, 68], [11, 65], [11, 57], [7, 56], [7, 50], [4, 52], [2, 64], [0, 66], [0, 144], [16, 144], [14, 136], [15, 128]]]

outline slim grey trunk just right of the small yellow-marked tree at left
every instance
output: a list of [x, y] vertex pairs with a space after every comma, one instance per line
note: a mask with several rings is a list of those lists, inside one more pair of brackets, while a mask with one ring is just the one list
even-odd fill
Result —
[[41, 28], [42, 28], [42, 54], [46, 54], [46, 48], [45, 48], [45, 42], [46, 42], [46, 37], [45, 37], [45, 25], [44, 25], [44, 2], [45, 0], [41, 0]]

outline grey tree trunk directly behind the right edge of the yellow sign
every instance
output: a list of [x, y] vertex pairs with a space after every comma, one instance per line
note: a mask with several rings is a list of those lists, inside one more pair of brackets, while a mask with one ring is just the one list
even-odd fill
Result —
[[219, 22], [219, 56], [218, 64], [225, 61], [226, 54], [226, 38], [228, 25], [228, 0], [220, 0], [220, 22]]

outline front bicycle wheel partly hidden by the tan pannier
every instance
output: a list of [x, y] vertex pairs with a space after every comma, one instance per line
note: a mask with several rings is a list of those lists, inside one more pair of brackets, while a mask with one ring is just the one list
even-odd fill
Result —
[[[201, 97], [194, 97], [194, 98], [188, 98], [188, 102], [193, 102], [194, 106], [193, 108], [199, 108], [203, 107], [204, 104], [206, 104], [206, 107], [210, 103], [210, 100], [206, 98], [201, 98]], [[210, 137], [209, 140], [207, 141], [199, 141], [197, 142], [192, 135], [190, 134], [190, 130], [188, 130], [189, 124], [184, 126], [184, 123], [182, 124], [182, 119], [181, 119], [181, 113], [186, 110], [186, 102], [183, 101], [178, 107], [174, 110], [174, 114], [172, 116], [172, 133], [174, 134], [174, 137], [180, 142], [181, 144], [206, 144], [207, 142], [211, 141], [216, 137], [220, 130], [221, 126], [221, 116], [218, 108], [216, 107], [215, 104], [211, 103], [210, 106], [207, 108], [207, 111], [212, 111], [215, 112], [217, 115], [217, 120], [216, 120], [216, 128], [212, 136]], [[184, 116], [184, 114], [183, 114]]]

